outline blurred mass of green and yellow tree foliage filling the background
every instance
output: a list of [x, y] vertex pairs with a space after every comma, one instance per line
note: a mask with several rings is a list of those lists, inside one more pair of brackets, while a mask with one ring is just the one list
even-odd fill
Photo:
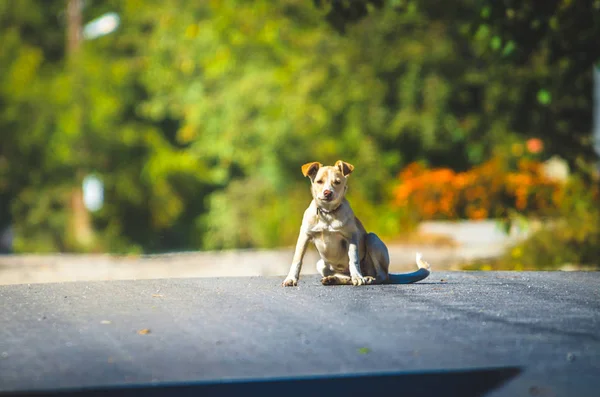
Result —
[[94, 173], [94, 250], [287, 245], [300, 166], [344, 159], [356, 211], [393, 236], [410, 162], [465, 170], [527, 135], [589, 163], [600, 2], [498, 4], [86, 2], [121, 26], [69, 67], [66, 2], [0, 2], [0, 225], [19, 251], [79, 250], [70, 199]]

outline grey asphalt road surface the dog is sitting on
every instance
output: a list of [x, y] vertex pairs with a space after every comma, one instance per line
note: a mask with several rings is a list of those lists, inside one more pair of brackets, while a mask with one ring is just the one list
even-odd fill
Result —
[[117, 387], [99, 389], [108, 395], [122, 385], [178, 395], [194, 385], [205, 395], [600, 395], [600, 273], [281, 281], [0, 286], [0, 395]]

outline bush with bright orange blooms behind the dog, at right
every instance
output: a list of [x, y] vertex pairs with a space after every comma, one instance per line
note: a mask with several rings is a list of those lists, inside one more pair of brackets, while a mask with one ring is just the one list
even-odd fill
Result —
[[500, 156], [465, 172], [412, 163], [399, 174], [394, 202], [418, 220], [497, 219], [512, 212], [544, 216], [560, 204], [563, 184], [546, 176], [542, 166], [522, 158], [510, 167]]

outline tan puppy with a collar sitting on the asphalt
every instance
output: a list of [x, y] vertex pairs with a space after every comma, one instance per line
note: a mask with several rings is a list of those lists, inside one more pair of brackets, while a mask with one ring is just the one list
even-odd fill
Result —
[[429, 276], [429, 264], [417, 253], [419, 270], [409, 274], [389, 274], [387, 247], [374, 233], [367, 233], [354, 216], [345, 198], [352, 164], [341, 160], [333, 167], [313, 162], [302, 166], [311, 180], [313, 201], [304, 212], [296, 252], [283, 285], [298, 285], [302, 259], [312, 241], [321, 259], [317, 271], [324, 285], [408, 284]]

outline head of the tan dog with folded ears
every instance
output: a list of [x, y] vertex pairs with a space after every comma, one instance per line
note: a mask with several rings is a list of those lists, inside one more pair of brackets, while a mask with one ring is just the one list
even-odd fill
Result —
[[337, 208], [346, 194], [348, 176], [354, 170], [352, 164], [338, 160], [334, 166], [312, 162], [302, 166], [302, 174], [310, 178], [311, 191], [317, 205], [327, 210]]

